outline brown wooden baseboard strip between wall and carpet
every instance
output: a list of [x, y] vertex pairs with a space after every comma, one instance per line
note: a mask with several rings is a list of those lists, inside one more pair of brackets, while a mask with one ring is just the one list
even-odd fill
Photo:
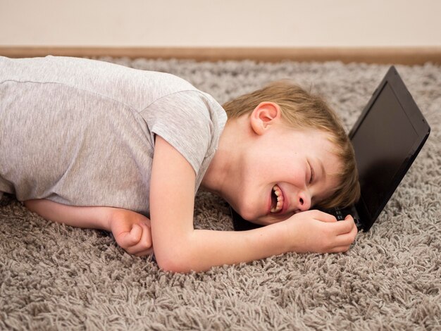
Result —
[[428, 47], [81, 47], [81, 46], [0, 46], [0, 55], [23, 58], [46, 55], [113, 56], [130, 58], [178, 58], [196, 61], [254, 60], [342, 61], [343, 63], [394, 63], [405, 65], [426, 62], [441, 64], [441, 46]]

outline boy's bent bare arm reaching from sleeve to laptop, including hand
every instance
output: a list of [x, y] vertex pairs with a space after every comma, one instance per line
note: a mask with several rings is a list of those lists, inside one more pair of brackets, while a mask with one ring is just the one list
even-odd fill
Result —
[[156, 261], [165, 270], [188, 272], [249, 262], [287, 251], [347, 251], [354, 242], [353, 220], [336, 222], [320, 211], [284, 222], [234, 232], [194, 230], [192, 166], [156, 136], [150, 187], [151, 233]]

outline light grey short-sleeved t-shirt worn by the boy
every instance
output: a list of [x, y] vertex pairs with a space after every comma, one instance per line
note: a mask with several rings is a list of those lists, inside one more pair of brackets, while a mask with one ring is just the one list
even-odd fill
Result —
[[0, 57], [0, 192], [149, 216], [155, 135], [189, 161], [197, 189], [226, 119], [212, 96], [167, 73]]

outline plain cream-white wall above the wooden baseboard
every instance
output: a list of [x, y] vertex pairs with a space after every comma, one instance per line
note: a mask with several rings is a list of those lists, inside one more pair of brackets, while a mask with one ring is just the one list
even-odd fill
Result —
[[440, 0], [0, 0], [0, 46], [441, 46]]

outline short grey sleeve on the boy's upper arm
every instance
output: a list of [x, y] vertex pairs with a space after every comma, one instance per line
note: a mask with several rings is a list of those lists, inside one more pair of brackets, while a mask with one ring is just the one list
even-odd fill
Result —
[[210, 103], [199, 91], [182, 91], [157, 99], [140, 115], [151, 134], [159, 135], [192, 165], [196, 175], [206, 155], [211, 153], [213, 120]]

